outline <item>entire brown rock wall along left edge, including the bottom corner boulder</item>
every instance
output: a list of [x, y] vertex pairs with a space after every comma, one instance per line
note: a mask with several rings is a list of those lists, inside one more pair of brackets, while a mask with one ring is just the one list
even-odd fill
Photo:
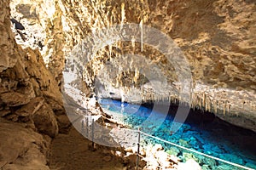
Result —
[[9, 3], [0, 1], [0, 168], [49, 169], [50, 137], [65, 114], [61, 91], [38, 49], [15, 42]]

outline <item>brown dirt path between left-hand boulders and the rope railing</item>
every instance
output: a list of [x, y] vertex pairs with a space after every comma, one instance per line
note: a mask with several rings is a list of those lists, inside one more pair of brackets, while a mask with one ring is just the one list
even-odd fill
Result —
[[49, 156], [52, 170], [122, 170], [123, 163], [102, 149], [91, 150], [91, 142], [72, 127], [67, 134], [53, 139]]

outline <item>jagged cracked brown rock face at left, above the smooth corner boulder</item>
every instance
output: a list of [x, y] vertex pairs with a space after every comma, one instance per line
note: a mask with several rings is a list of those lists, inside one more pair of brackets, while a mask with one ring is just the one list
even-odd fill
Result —
[[[9, 1], [4, 1], [4, 3], [1, 1], [1, 8], [3, 8], [1, 17], [4, 20], [1, 20], [0, 28], [4, 34], [1, 37], [2, 45], [0, 47], [9, 48], [7, 52], [1, 51], [3, 55], [1, 59], [11, 61], [15, 58], [15, 63], [13, 64], [6, 65], [0, 62], [0, 65], [4, 65], [0, 71], [1, 116], [13, 122], [31, 123], [33, 123], [32, 115], [34, 114], [36, 114], [37, 120], [40, 114], [44, 118], [50, 117], [49, 121], [52, 122], [52, 126], [49, 126], [49, 122], [40, 122], [39, 127], [42, 128], [45, 123], [44, 128], [49, 129], [44, 129], [43, 131], [47, 132], [48, 130], [50, 132], [48, 132], [49, 135], [53, 136], [57, 133], [55, 113], [53, 111], [59, 115], [64, 113], [58, 83], [44, 65], [44, 59], [38, 49], [22, 49], [15, 42], [9, 20]], [[48, 115], [39, 109], [43, 105], [44, 99], [50, 106], [47, 106], [46, 112]], [[47, 105], [46, 103], [44, 105]], [[42, 129], [38, 130], [42, 131]]]

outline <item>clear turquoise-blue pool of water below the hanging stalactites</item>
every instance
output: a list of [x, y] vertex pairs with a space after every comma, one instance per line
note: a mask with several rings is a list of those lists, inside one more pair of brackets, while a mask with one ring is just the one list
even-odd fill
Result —
[[[131, 128], [141, 127], [143, 132], [149, 132], [148, 129], [153, 129], [150, 127], [150, 123], [148, 127], [141, 126], [143, 122], [147, 122], [148, 116], [152, 115], [152, 105], [132, 105], [112, 99], [101, 99], [100, 104], [102, 108], [116, 113], [117, 116], [114, 118]], [[177, 111], [177, 105], [171, 105], [164, 122], [161, 122], [157, 129], [152, 130], [151, 134], [225, 161], [256, 168], [256, 133], [230, 125], [230, 123], [218, 119], [211, 113], [190, 110], [186, 122], [176, 133], [171, 134], [170, 129], [175, 111]], [[162, 116], [162, 113], [157, 112], [155, 115]], [[242, 169], [205, 156], [192, 154], [187, 150], [161, 143], [158, 140], [148, 138], [145, 139], [144, 143], [162, 144], [166, 152], [178, 156], [181, 161], [187, 161], [190, 158], [195, 159], [200, 163], [202, 169]]]

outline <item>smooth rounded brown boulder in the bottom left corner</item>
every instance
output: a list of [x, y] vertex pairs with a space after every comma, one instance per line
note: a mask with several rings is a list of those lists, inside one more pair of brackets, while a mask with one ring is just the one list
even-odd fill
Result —
[[19, 123], [5, 122], [0, 118], [0, 168], [42, 169], [46, 166], [47, 142], [42, 135]]

